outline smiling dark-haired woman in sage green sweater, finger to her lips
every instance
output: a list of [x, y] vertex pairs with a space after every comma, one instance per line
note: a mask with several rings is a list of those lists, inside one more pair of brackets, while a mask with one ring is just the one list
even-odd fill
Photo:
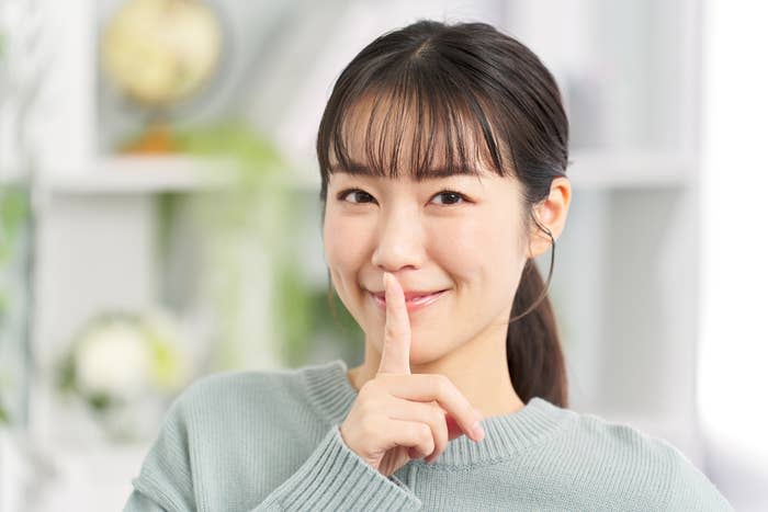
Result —
[[532, 261], [565, 226], [567, 143], [553, 77], [490, 25], [366, 46], [317, 137], [363, 363], [200, 379], [126, 510], [732, 510], [667, 442], [567, 409]]

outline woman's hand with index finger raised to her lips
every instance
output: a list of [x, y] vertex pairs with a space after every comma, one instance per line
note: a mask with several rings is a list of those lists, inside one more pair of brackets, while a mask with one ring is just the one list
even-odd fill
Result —
[[384, 273], [386, 321], [376, 376], [358, 392], [340, 426], [347, 446], [382, 475], [411, 458], [438, 458], [449, 441], [484, 436], [483, 420], [453, 383], [440, 374], [410, 373], [410, 321], [397, 280]]

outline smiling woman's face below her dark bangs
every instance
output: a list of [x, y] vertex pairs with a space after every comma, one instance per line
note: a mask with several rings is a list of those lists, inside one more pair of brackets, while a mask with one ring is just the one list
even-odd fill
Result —
[[[407, 140], [407, 139], [406, 139]], [[354, 151], [351, 160], [365, 161]], [[405, 161], [409, 161], [406, 159]], [[439, 166], [432, 166], [436, 168]], [[527, 250], [517, 180], [483, 167], [482, 175], [411, 179], [329, 177], [323, 238], [340, 299], [381, 353], [383, 273], [408, 292], [447, 291], [409, 311], [410, 360], [425, 364], [507, 322]], [[496, 335], [496, 334], [494, 334]]]

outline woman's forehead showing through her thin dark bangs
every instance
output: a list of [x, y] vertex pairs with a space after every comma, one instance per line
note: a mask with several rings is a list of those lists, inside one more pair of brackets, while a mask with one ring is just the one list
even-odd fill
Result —
[[476, 121], [453, 105], [425, 104], [415, 95], [366, 94], [345, 111], [336, 134], [331, 174], [405, 175], [417, 182], [500, 175]]

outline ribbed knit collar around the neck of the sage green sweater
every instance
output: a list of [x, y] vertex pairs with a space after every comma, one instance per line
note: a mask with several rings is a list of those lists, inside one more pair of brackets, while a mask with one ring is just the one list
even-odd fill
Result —
[[[343, 360], [304, 366], [300, 371], [309, 400], [330, 424], [343, 422], [358, 396], [347, 371]], [[422, 459], [414, 459], [411, 463], [425, 464], [427, 467], [468, 466], [513, 458], [520, 452], [567, 428], [577, 417], [575, 411], [533, 397], [517, 412], [485, 418], [482, 422], [485, 437], [482, 441], [475, 442], [466, 435], [461, 435], [449, 442], [445, 451], [433, 464], [427, 465]]]

